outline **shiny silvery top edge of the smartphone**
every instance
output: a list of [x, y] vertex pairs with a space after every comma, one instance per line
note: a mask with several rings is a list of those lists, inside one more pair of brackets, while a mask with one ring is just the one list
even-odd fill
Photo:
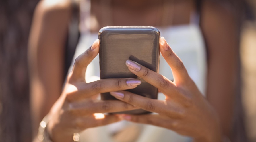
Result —
[[113, 30], [148, 30], [148, 29], [155, 31], [160, 37], [160, 31], [158, 30], [158, 28], [153, 26], [106, 26], [99, 30], [99, 36], [102, 32], [108, 31], [108, 30], [113, 31]]

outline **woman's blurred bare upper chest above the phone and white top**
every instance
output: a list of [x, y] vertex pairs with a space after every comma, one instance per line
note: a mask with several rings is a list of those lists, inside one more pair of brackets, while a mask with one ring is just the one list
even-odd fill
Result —
[[[83, 1], [81, 22], [86, 23], [91, 32], [98, 32], [104, 26], [163, 27], [189, 24], [190, 15], [195, 11], [191, 0]], [[84, 10], [85, 7], [87, 10]]]

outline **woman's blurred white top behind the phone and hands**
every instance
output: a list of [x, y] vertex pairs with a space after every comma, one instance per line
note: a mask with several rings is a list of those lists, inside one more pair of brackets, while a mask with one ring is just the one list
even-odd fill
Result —
[[[83, 3], [81, 3], [81, 6]], [[86, 7], [81, 7], [81, 36], [79, 44], [75, 51], [74, 60], [77, 56], [88, 49], [92, 43], [98, 39], [98, 33], [90, 33], [88, 28], [88, 17], [90, 16], [90, 1], [84, 1]], [[86, 22], [85, 22], [85, 21]], [[189, 76], [194, 80], [202, 94], [205, 95], [207, 59], [203, 36], [198, 24], [188, 24], [182, 26], [172, 26], [168, 28], [160, 28], [161, 36], [163, 36], [172, 50], [181, 58], [186, 67]], [[71, 68], [73, 66], [71, 64]], [[162, 55], [160, 55], [159, 73], [173, 80], [172, 72]], [[92, 82], [100, 79], [99, 56], [97, 56], [88, 66], [86, 71], [86, 82]], [[165, 99], [162, 93], [158, 93], [158, 99]], [[178, 135], [172, 130], [146, 124], [136, 124], [133, 122], [121, 121], [107, 126], [89, 128], [80, 133], [79, 141], [89, 142], [111, 142], [115, 141], [112, 137], [124, 128], [130, 129], [127, 135], [123, 135], [122, 140], [126, 141], [130, 137], [134, 137], [132, 141], [137, 142], [155, 142], [155, 141], [175, 141], [187, 142], [191, 141], [189, 137]], [[125, 133], [125, 132], [124, 132]], [[129, 140], [128, 140], [129, 141]]]

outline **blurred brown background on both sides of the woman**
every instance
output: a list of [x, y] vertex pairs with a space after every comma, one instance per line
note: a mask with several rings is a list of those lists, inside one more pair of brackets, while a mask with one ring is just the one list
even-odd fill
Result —
[[[27, 44], [39, 0], [0, 1], [0, 141], [31, 141]], [[241, 94], [236, 141], [256, 142], [256, 0], [230, 0], [239, 11]]]

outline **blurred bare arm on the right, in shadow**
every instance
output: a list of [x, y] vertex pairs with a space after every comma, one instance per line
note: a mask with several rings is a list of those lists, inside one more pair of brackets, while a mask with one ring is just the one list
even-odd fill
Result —
[[204, 1], [202, 30], [208, 48], [207, 100], [220, 119], [222, 135], [230, 137], [234, 113], [238, 36], [234, 14]]

